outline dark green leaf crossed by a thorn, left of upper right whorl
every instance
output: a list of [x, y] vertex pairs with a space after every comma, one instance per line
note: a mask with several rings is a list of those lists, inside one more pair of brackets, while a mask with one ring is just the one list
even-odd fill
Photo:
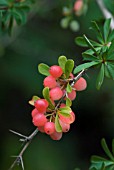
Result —
[[[89, 39], [89, 41], [91, 42], [91, 44], [93, 45], [93, 46], [101, 46], [101, 44], [99, 44], [99, 43], [97, 43], [97, 42], [95, 42], [95, 41], [93, 41], [93, 40], [90, 40]], [[87, 44], [87, 42], [86, 42], [86, 40], [85, 40], [85, 38], [84, 37], [76, 37], [75, 38], [75, 43], [77, 44], [77, 45], [79, 45], [79, 46], [82, 46], [82, 47], [88, 47], [88, 44]]]

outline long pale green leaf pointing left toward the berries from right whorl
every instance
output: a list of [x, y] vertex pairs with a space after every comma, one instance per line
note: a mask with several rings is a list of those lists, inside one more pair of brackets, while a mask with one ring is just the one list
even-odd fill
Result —
[[80, 64], [79, 66], [77, 66], [75, 69], [74, 69], [74, 74], [82, 71], [82, 70], [85, 70], [89, 67], [92, 67], [94, 65], [98, 65], [100, 62], [97, 62], [97, 61], [92, 61], [92, 62], [88, 62], [88, 63], [84, 63], [84, 64]]

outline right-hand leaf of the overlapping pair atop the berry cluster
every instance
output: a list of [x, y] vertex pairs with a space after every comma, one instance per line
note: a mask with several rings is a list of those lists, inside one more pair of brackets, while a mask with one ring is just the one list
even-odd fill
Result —
[[71, 59], [68, 59], [66, 64], [65, 64], [65, 75], [66, 75], [66, 78], [69, 78], [70, 73], [72, 72], [73, 68], [74, 68], [74, 61], [71, 60]]

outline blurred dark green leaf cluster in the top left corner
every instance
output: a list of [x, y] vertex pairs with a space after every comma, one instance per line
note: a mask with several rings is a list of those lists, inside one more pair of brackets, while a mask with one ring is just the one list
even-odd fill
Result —
[[0, 24], [4, 32], [11, 35], [15, 23], [23, 25], [33, 0], [0, 0]]

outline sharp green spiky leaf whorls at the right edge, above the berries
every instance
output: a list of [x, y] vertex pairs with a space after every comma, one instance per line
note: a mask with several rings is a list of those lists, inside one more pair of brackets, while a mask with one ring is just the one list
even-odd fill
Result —
[[92, 66], [100, 68], [96, 80], [96, 87], [100, 89], [104, 77], [114, 79], [114, 30], [110, 29], [111, 19], [107, 19], [101, 28], [95, 21], [92, 22], [91, 29], [96, 33], [97, 41], [93, 41], [83, 37], [77, 37], [75, 42], [82, 46], [89, 48], [82, 53], [83, 60], [87, 61], [84, 64], [77, 66], [74, 69], [74, 74], [83, 69], [88, 69]]

